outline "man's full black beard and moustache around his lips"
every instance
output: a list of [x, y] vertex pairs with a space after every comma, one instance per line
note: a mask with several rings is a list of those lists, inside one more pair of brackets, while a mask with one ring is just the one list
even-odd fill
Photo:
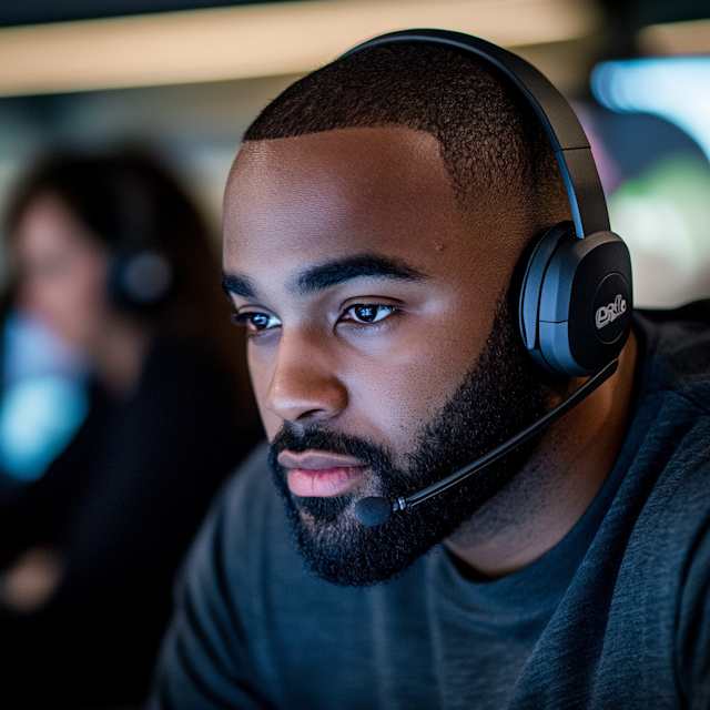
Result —
[[[539, 437], [426, 503], [394, 514], [381, 526], [361, 525], [355, 506], [366, 496], [409, 496], [542, 416], [547, 397], [528, 362], [508, 308], [500, 306], [481, 354], [452, 398], [423, 428], [414, 453], [406, 456], [406, 467], [398, 467], [394, 452], [375, 442], [331, 432], [322, 424], [296, 428], [285, 423], [271, 443], [270, 468], [306, 567], [331, 582], [367, 587], [402, 575], [470, 519], [523, 468]], [[334, 498], [294, 496], [277, 463], [285, 449], [354, 456], [369, 466], [368, 490]]]

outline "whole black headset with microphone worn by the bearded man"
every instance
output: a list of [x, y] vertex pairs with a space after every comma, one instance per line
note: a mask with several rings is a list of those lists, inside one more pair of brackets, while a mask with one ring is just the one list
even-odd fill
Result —
[[559, 164], [572, 222], [547, 230], [518, 266], [523, 282], [518, 323], [523, 343], [547, 373], [589, 377], [571, 396], [517, 436], [427, 488], [395, 500], [364, 498], [358, 520], [382, 525], [458, 485], [517, 448], [589, 396], [617, 369], [631, 329], [631, 260], [623, 241], [609, 230], [607, 204], [591, 149], [575, 112], [555, 87], [524, 59], [469, 34], [447, 30], [404, 30], [372, 39], [346, 52], [373, 47], [430, 43], [473, 53], [497, 67], [530, 103]]

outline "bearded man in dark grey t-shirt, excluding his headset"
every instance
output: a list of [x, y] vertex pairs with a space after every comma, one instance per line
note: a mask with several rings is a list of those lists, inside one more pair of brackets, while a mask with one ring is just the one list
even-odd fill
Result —
[[569, 215], [527, 100], [453, 48], [356, 52], [254, 122], [224, 284], [270, 446], [193, 548], [153, 708], [708, 707], [704, 323], [639, 316], [542, 435], [357, 519], [584, 382], [514, 315], [521, 256]]

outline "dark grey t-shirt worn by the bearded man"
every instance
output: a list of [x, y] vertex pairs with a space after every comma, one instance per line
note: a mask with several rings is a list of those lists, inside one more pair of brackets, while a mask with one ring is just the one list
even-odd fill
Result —
[[613, 470], [559, 545], [500, 580], [439, 546], [372, 589], [322, 581], [257, 449], [193, 546], [149, 707], [709, 708], [706, 310], [637, 316]]

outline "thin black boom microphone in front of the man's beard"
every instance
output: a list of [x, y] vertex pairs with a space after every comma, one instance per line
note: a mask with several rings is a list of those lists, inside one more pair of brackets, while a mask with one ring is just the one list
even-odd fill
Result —
[[514, 436], [511, 439], [504, 442], [500, 446], [488, 452], [480, 458], [477, 458], [473, 464], [464, 466], [464, 468], [459, 468], [457, 471], [454, 471], [446, 478], [442, 478], [442, 480], [432, 484], [427, 488], [423, 488], [406, 498], [404, 496], [399, 496], [395, 500], [375, 497], [363, 498], [355, 508], [357, 520], [366, 527], [383, 525], [383, 523], [389, 520], [393, 513], [398, 513], [406, 510], [407, 508], [418, 506], [420, 503], [428, 500], [433, 496], [444, 493], [453, 486], [458, 486], [458, 484], [466, 480], [469, 476], [473, 476], [475, 473], [486, 468], [486, 466], [497, 462], [499, 458], [520, 446], [520, 444], [524, 444], [535, 435], [546, 429], [550, 424], [557, 422], [557, 419], [567, 414], [572, 407], [577, 406], [582, 399], [597, 389], [597, 387], [609, 379], [609, 377], [611, 377], [611, 375], [617, 371], [619, 361], [612, 361], [601, 372], [597, 373], [584, 385], [575, 389], [567, 399], [558, 404], [554, 409], [540, 417], [529, 427], [523, 429], [523, 432]]

